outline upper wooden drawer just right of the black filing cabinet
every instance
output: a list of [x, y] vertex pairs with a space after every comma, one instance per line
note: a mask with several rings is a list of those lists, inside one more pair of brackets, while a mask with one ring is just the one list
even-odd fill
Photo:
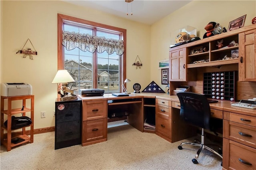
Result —
[[83, 121], [107, 117], [107, 101], [83, 102]]

